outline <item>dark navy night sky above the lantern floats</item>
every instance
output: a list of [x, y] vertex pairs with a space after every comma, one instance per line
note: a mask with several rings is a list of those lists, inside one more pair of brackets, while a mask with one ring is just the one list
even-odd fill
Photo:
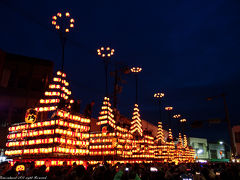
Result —
[[[221, 98], [206, 101], [223, 92], [232, 124], [240, 122], [240, 1], [1, 0], [0, 48], [52, 60], [56, 71], [61, 48], [51, 17], [67, 11], [75, 28], [66, 46], [65, 72], [74, 97], [82, 100], [82, 110], [91, 100], [96, 101], [95, 116], [100, 110], [105, 79], [96, 49], [110, 45], [116, 50], [111, 70], [116, 62], [143, 68], [139, 75], [143, 119], [157, 124], [153, 94], [164, 92], [163, 106], [173, 106], [174, 113], [188, 120], [189, 136], [228, 141], [226, 123], [198, 129], [189, 124], [224, 118]], [[135, 81], [132, 75], [124, 79], [118, 107], [131, 117]], [[113, 78], [110, 83], [112, 91]]]

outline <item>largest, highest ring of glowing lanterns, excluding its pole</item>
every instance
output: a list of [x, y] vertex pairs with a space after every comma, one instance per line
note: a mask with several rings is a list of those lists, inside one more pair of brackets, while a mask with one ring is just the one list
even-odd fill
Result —
[[59, 12], [56, 16], [52, 17], [52, 25], [61, 32], [68, 33], [71, 28], [74, 28], [74, 22], [75, 20], [70, 17], [69, 12], [65, 14]]

